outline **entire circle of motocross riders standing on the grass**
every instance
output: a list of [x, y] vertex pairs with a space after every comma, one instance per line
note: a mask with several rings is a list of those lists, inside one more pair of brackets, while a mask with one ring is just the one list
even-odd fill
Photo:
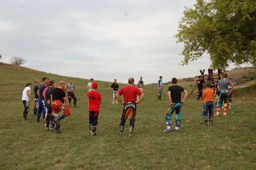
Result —
[[[177, 85], [177, 79], [172, 78], [172, 86], [168, 88], [168, 100], [169, 107], [166, 113], [166, 129], [164, 132], [171, 132], [171, 116], [173, 113], [176, 114], [176, 122], [174, 131], [178, 132], [180, 123], [181, 123], [181, 107], [183, 106], [186, 98], [188, 97], [188, 92], [181, 86]], [[76, 107], [77, 99], [74, 94], [75, 86], [70, 82], [65, 85], [65, 80], [60, 81], [58, 86], [54, 83], [54, 80], [48, 80], [48, 78], [42, 79], [42, 84], [38, 87], [40, 83], [39, 80], [36, 80], [34, 91], [35, 91], [35, 107], [34, 115], [37, 116], [37, 122], [40, 122], [40, 115], [43, 114], [43, 122], [45, 124], [45, 129], [49, 131], [60, 132], [60, 120], [71, 115], [71, 98], [74, 101], [74, 106]], [[123, 129], [126, 123], [127, 118], [130, 118], [129, 124], [129, 135], [134, 131], [135, 125], [135, 116], [137, 105], [142, 102], [145, 95], [143, 94], [144, 82], [142, 77], [137, 83], [137, 87], [134, 86], [134, 78], [128, 79], [128, 86], [122, 87], [119, 91], [119, 85], [117, 80], [114, 79], [114, 82], [111, 85], [113, 88], [112, 103], [119, 103], [123, 105], [123, 111], [121, 115], [121, 120], [119, 124], [119, 135], [122, 135]], [[161, 100], [162, 95], [162, 76], [158, 81], [158, 100]], [[212, 125], [213, 119], [213, 98], [214, 91], [211, 89], [211, 83], [206, 82], [205, 86], [207, 89], [202, 91], [202, 99], [204, 99], [204, 109], [203, 117], [204, 121], [208, 125]], [[87, 84], [88, 88], [88, 106], [89, 106], [89, 134], [97, 135], [97, 123], [98, 115], [100, 114], [100, 104], [102, 103], [102, 97], [99, 92], [97, 92], [98, 84], [94, 82], [94, 79], [90, 79], [90, 82]], [[220, 109], [222, 103], [224, 102], [224, 116], [227, 116], [227, 106], [229, 99], [228, 87], [234, 87], [234, 84], [227, 78], [227, 74], [224, 74], [224, 79], [220, 80], [218, 83], [218, 89], [220, 91], [220, 97], [218, 102], [217, 114], [215, 116], [219, 117]], [[26, 84], [22, 92], [22, 102], [24, 105], [23, 112], [23, 121], [27, 121], [27, 115], [29, 112], [29, 103], [31, 101], [30, 96], [31, 83]], [[68, 92], [68, 99], [65, 95], [65, 91]], [[181, 100], [181, 92], [185, 95]], [[120, 96], [123, 95], [123, 101]], [[38, 98], [37, 98], [38, 97]], [[65, 105], [64, 105], [65, 103]], [[63, 112], [63, 114], [60, 114]], [[208, 117], [209, 112], [209, 117]]]

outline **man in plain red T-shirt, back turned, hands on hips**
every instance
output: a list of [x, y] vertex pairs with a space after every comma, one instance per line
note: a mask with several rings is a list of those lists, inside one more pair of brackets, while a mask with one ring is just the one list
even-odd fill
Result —
[[[131, 133], [134, 130], [135, 116], [136, 116], [136, 105], [141, 103], [144, 99], [144, 94], [141, 90], [134, 86], [134, 78], [128, 79], [128, 86], [122, 87], [117, 93], [117, 99], [120, 104], [123, 105], [123, 111], [121, 116], [121, 121], [119, 124], [119, 135], [122, 135], [123, 128], [125, 126], [126, 119], [128, 115], [130, 117], [130, 127], [129, 127], [129, 136], [131, 137]], [[121, 100], [120, 96], [123, 94], [124, 101]], [[141, 96], [138, 101], [136, 101], [137, 95]]]

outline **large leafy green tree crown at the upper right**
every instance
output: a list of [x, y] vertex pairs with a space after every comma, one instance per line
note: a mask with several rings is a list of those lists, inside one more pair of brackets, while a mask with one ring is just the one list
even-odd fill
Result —
[[182, 65], [207, 53], [212, 69], [256, 66], [256, 1], [197, 0], [194, 7], [185, 8], [175, 35], [176, 43], [184, 43]]

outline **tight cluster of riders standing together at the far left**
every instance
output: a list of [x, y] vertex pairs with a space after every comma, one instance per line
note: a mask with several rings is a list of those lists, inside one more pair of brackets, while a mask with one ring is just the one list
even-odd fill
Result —
[[[65, 85], [65, 79], [60, 81], [56, 86], [54, 80], [48, 80], [47, 77], [42, 79], [42, 84], [38, 87], [40, 81], [35, 81], [35, 107], [34, 116], [37, 117], [36, 121], [40, 122], [40, 117], [43, 115], [43, 123], [45, 124], [45, 130], [60, 132], [60, 120], [71, 114], [71, 98], [74, 100], [74, 106], [76, 107], [77, 99], [74, 91], [75, 86], [72, 84], [72, 80]], [[24, 105], [23, 121], [27, 121], [27, 115], [29, 112], [29, 105], [31, 102], [31, 83], [26, 84], [26, 88], [22, 92], [22, 102]], [[68, 92], [67, 99], [65, 91]], [[65, 103], [65, 105], [64, 105]], [[60, 114], [63, 112], [63, 114]]]

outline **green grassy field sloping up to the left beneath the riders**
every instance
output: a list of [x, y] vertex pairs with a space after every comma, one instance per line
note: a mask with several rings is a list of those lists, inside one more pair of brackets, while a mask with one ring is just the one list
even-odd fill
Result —
[[171, 133], [163, 132], [168, 87], [158, 101], [157, 87], [145, 86], [133, 137], [128, 123], [119, 137], [122, 105], [111, 102], [112, 82], [96, 81], [103, 104], [93, 137], [87, 134], [85, 79], [72, 78], [78, 107], [61, 121], [61, 134], [46, 132], [32, 116], [32, 107], [30, 121], [22, 121], [22, 90], [43, 77], [70, 79], [0, 63], [0, 169], [256, 169], [256, 86], [237, 89], [228, 117], [214, 117], [213, 126], [203, 125], [203, 100], [196, 100], [194, 92], [183, 106], [180, 131]]

